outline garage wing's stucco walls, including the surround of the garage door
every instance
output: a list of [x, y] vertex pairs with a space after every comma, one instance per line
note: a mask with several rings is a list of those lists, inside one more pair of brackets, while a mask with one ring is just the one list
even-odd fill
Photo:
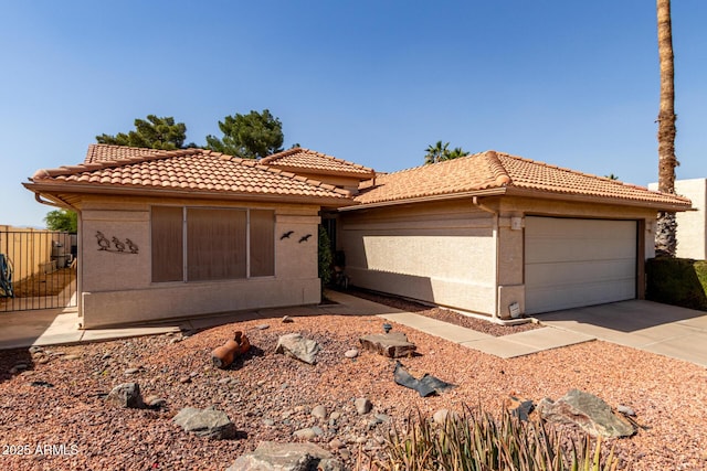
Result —
[[[655, 211], [528, 197], [471, 200], [345, 211], [340, 245], [351, 283], [500, 318], [525, 312], [525, 217], [640, 221], [643, 260], [654, 256]], [[639, 296], [643, 289], [639, 288]]]

